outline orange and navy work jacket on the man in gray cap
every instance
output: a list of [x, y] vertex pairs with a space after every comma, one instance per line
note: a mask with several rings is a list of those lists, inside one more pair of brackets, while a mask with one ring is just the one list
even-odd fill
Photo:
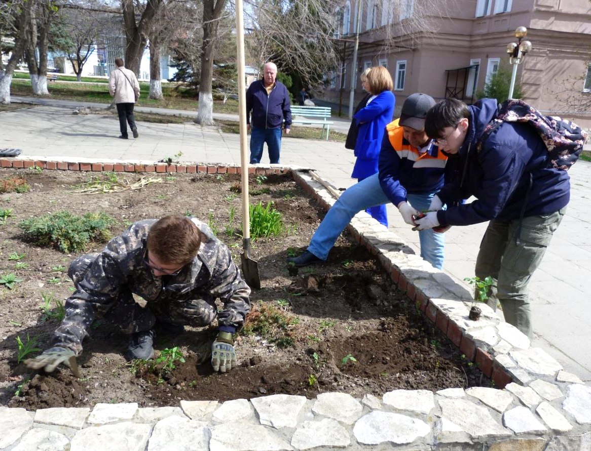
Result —
[[437, 192], [452, 177], [446, 174], [447, 156], [433, 142], [421, 153], [404, 139], [398, 119], [386, 126], [379, 154], [379, 184], [395, 206], [411, 194]]

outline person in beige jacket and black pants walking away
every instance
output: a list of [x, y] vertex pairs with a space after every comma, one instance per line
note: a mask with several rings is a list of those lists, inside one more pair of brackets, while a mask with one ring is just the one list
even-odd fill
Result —
[[115, 97], [117, 105], [117, 114], [119, 115], [119, 128], [121, 135], [119, 138], [127, 139], [127, 123], [134, 134], [134, 138], [139, 136], [138, 128], [135, 126], [134, 104], [139, 99], [139, 83], [135, 74], [123, 66], [122, 58], [115, 58], [115, 70], [109, 77], [109, 93]]

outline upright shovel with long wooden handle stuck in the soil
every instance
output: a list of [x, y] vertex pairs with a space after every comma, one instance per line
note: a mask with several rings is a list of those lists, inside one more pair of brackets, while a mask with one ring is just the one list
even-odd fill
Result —
[[238, 54], [238, 111], [240, 120], [240, 161], [242, 166], [242, 273], [251, 288], [261, 287], [258, 262], [251, 259], [251, 221], [248, 202], [248, 153], [246, 149], [246, 83], [244, 70], [244, 16], [242, 0], [236, 0], [236, 53]]

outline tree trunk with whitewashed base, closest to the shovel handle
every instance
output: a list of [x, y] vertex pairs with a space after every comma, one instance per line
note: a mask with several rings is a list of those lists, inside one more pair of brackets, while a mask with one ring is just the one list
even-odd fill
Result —
[[226, 0], [203, 0], [203, 47], [201, 51], [201, 74], [199, 77], [199, 107], [195, 122], [213, 125], [213, 50], [217, 25]]

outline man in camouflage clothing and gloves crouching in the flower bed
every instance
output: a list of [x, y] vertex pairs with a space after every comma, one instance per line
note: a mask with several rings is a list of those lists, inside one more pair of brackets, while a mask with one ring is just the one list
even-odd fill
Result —
[[[251, 290], [228, 247], [196, 218], [138, 221], [100, 253], [75, 259], [68, 274], [76, 290], [66, 300], [66, 318], [54, 334], [53, 348], [28, 360], [28, 367], [50, 372], [64, 363], [75, 370], [82, 341], [98, 316], [131, 335], [127, 360], [152, 358], [155, 325], [180, 335], [184, 325], [205, 327], [217, 317], [213, 369], [236, 367], [232, 334], [250, 311]], [[145, 307], [134, 295], [146, 301]], [[224, 304], [219, 312], [217, 298]]]

